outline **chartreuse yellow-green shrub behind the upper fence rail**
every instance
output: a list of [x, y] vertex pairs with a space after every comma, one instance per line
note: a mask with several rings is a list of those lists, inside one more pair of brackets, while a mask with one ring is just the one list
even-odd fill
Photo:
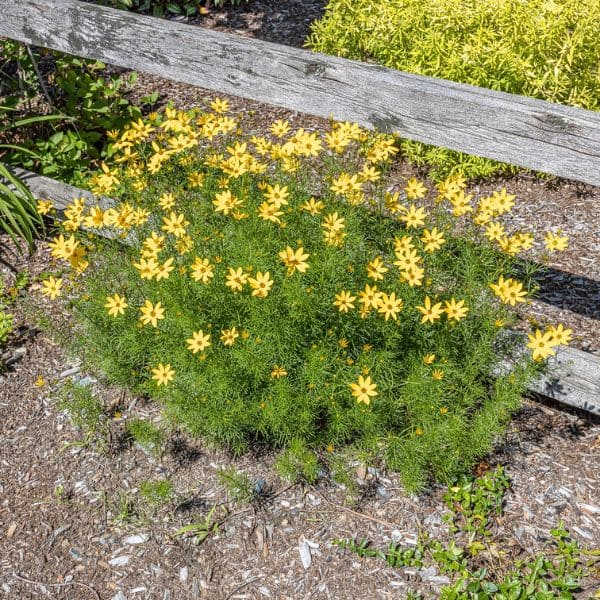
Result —
[[[417, 73], [600, 109], [596, 0], [330, 0], [312, 26], [313, 50]], [[508, 165], [404, 140], [434, 178]]]

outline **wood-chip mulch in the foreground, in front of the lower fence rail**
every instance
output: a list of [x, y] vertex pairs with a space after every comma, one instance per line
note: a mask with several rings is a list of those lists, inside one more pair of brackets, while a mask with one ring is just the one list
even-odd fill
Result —
[[[32, 275], [47, 270], [47, 249], [40, 244], [15, 266], [28, 266]], [[314, 486], [289, 486], [276, 475], [269, 451], [233, 460], [176, 430], [162, 458], [152, 457], [132, 444], [125, 423], [158, 422], [160, 407], [80, 372], [46, 334], [27, 325], [27, 306], [26, 296], [16, 306], [21, 337], [11, 346], [24, 355], [0, 377], [0, 590], [7, 598], [393, 598], [408, 589], [435, 597], [445, 581], [439, 573], [360, 560], [331, 540], [410, 544], [420, 531], [448, 539], [441, 487], [407, 496], [394, 475], [357, 465], [360, 497], [345, 505], [346, 491], [325, 474]], [[56, 309], [48, 304], [48, 311]], [[45, 384], [38, 387], [40, 376]], [[90, 386], [102, 399], [110, 431], [104, 445], [76, 443], [82, 436], [57, 410], [67, 381]], [[598, 419], [525, 402], [504, 443], [480, 465], [504, 464], [512, 481], [494, 535], [511, 560], [541, 550], [561, 519], [575, 539], [598, 547], [599, 460]], [[258, 505], [228, 502], [217, 473], [231, 465], [264, 481]], [[152, 511], [136, 491], [163, 477], [176, 498]], [[124, 499], [137, 508], [119, 523]], [[202, 545], [176, 535], [214, 505], [222, 522]], [[311, 544], [307, 568], [300, 553], [305, 541]]]

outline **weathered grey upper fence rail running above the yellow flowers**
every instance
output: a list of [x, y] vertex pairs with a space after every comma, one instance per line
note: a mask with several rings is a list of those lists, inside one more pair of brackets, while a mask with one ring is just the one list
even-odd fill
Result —
[[78, 0], [0, 14], [28, 44], [600, 185], [600, 113]]

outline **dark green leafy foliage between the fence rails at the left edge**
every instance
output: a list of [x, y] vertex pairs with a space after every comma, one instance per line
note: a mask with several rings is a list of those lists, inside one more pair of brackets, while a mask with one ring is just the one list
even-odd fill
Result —
[[[39, 67], [42, 62], [43, 70]], [[4, 95], [0, 133], [4, 129], [4, 137], [9, 142], [0, 145], [0, 158], [49, 177], [81, 185], [83, 173], [107, 157], [108, 132], [142, 115], [141, 108], [124, 94], [125, 88], [136, 81], [137, 74], [132, 73], [127, 79], [109, 75], [106, 65], [100, 61], [36, 50], [3, 40], [0, 41], [0, 70], [7, 74], [0, 84], [0, 96]], [[142, 105], [152, 104], [156, 97], [144, 98]], [[36, 114], [42, 111], [51, 114]], [[16, 128], [25, 133], [18, 143], [8, 133]], [[13, 195], [18, 194], [19, 205], [23, 207], [16, 212], [17, 199], [9, 198], [13, 215], [25, 211], [32, 221], [27, 229], [40, 227], [41, 219], [33, 198], [18, 180], [15, 182], [14, 175], [11, 178], [0, 165], [0, 180], [2, 178], [13, 184]], [[0, 227], [4, 222], [3, 197], [7, 201], [0, 195]], [[14, 223], [12, 227], [16, 227]], [[24, 225], [21, 224], [21, 228]], [[24, 233], [17, 233], [29, 241]]]

